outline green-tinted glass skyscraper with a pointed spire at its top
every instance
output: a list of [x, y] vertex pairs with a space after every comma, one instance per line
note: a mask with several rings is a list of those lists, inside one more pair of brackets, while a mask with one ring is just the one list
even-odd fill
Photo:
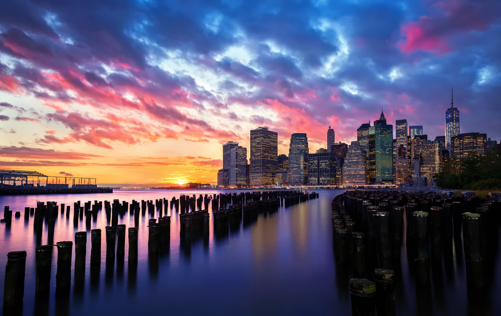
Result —
[[393, 183], [393, 125], [383, 111], [369, 127], [369, 184]]

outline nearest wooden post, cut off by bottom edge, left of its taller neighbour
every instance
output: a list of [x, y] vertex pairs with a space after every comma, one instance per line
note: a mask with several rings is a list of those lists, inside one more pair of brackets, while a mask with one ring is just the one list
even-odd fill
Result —
[[351, 313], [353, 316], [376, 315], [376, 284], [365, 278], [350, 280]]

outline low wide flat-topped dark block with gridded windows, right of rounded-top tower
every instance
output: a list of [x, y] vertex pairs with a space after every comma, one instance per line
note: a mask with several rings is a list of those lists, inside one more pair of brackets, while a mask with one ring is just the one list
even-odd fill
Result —
[[332, 152], [320, 151], [308, 154], [308, 184], [336, 185], [337, 163]]

